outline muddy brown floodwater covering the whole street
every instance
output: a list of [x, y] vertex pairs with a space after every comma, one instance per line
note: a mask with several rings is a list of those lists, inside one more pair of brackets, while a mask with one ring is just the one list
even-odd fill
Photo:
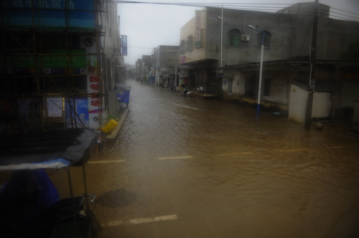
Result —
[[127, 83], [118, 140], [86, 165], [100, 238], [359, 237], [350, 125], [305, 130], [269, 112], [256, 119], [252, 108]]

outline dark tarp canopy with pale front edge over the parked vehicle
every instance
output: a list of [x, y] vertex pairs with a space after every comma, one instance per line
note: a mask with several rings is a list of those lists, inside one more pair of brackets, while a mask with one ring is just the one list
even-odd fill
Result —
[[0, 170], [82, 165], [97, 136], [88, 129], [1, 135]]

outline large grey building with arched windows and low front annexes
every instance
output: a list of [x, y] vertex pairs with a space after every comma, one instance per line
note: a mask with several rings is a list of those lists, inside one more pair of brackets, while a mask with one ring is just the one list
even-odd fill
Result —
[[[314, 19], [317, 47], [311, 75]], [[345, 118], [358, 100], [359, 65], [342, 55], [358, 38], [359, 23], [330, 19], [324, 4], [298, 3], [276, 13], [223, 9], [223, 15], [221, 8], [206, 7], [180, 29], [180, 77], [188, 77], [190, 89], [203, 85], [208, 94], [250, 104], [257, 103], [260, 89], [261, 105], [298, 122], [304, 120], [312, 79], [312, 117]]]

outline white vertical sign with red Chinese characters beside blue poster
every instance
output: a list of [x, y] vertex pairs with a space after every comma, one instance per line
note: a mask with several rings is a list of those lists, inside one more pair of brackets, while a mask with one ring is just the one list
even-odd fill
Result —
[[98, 128], [98, 113], [100, 106], [99, 94], [99, 80], [97, 75], [88, 75], [87, 76], [87, 92], [90, 94], [88, 98], [89, 105], [89, 124], [90, 128]]

